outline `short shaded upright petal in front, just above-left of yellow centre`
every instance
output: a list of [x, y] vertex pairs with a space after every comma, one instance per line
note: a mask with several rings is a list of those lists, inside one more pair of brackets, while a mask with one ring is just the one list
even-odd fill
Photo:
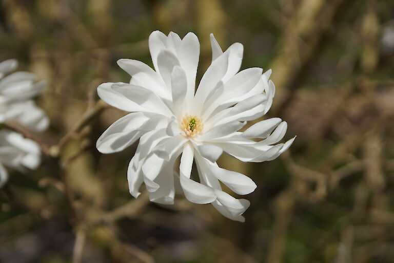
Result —
[[[183, 102], [187, 93], [187, 79], [185, 71], [175, 66], [171, 74], [171, 91], [172, 91], [172, 109], [175, 114], [182, 112]], [[177, 116], [182, 118], [182, 116]]]

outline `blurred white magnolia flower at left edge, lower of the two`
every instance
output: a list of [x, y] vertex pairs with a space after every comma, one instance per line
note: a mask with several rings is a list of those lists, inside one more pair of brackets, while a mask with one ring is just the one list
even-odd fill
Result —
[[41, 152], [36, 142], [8, 129], [0, 130], [0, 187], [8, 179], [4, 166], [23, 171], [35, 169], [40, 164]]

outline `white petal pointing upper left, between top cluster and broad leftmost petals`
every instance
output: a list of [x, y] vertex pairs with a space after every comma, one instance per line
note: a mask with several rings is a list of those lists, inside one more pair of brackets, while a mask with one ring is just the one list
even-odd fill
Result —
[[171, 98], [171, 92], [166, 87], [160, 74], [145, 63], [137, 60], [120, 59], [117, 64], [130, 74], [133, 84], [147, 88], [163, 99]]

